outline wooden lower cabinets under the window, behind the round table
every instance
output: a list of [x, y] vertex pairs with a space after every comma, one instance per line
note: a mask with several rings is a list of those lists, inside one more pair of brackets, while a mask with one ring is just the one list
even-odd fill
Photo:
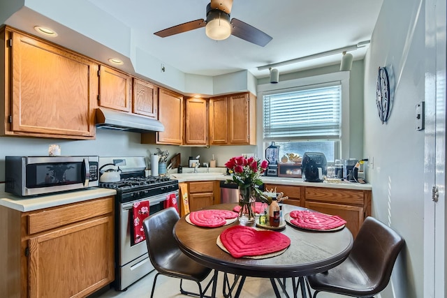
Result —
[[371, 191], [281, 184], [264, 184], [264, 187], [283, 192], [289, 197], [288, 204], [340, 216], [354, 238], [365, 218], [371, 215]]

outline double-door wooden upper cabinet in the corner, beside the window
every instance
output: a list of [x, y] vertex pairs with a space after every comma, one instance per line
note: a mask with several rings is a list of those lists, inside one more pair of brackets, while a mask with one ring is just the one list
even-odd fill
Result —
[[210, 98], [210, 144], [256, 144], [256, 96]]

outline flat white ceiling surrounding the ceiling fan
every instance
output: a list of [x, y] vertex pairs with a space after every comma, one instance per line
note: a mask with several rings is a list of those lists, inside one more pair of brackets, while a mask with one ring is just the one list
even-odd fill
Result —
[[[382, 0], [234, 0], [230, 16], [272, 36], [265, 47], [230, 36], [215, 41], [205, 28], [160, 38], [153, 33], [177, 24], [206, 19], [208, 0], [89, 0], [147, 40], [132, 40], [157, 59], [184, 73], [221, 75], [356, 45], [371, 37]], [[354, 60], [367, 47], [352, 51]], [[279, 67], [279, 73], [339, 64], [342, 54]]]

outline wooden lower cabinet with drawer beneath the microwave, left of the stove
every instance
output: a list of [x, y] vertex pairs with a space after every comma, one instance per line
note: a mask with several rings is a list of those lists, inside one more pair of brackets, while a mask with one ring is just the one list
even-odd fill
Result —
[[113, 200], [29, 212], [0, 207], [8, 223], [0, 231], [2, 297], [86, 297], [111, 283]]

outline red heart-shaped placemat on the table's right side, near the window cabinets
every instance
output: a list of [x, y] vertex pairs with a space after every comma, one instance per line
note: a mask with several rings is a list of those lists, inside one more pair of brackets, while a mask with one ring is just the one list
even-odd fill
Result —
[[346, 221], [337, 216], [309, 210], [295, 210], [290, 213], [291, 223], [299, 228], [312, 230], [331, 230], [338, 228]]

